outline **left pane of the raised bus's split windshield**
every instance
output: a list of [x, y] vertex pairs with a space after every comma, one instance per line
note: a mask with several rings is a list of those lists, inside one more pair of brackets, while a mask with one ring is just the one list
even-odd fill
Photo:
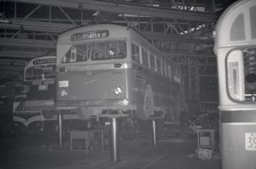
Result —
[[91, 44], [78, 44], [72, 46], [67, 54], [63, 57], [63, 63], [70, 62], [85, 62], [88, 60], [88, 56], [90, 54]]

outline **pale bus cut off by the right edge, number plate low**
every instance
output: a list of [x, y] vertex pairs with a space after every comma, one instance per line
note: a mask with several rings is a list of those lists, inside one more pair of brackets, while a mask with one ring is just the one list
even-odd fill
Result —
[[255, 16], [255, 0], [237, 1], [215, 30], [223, 169], [256, 168]]

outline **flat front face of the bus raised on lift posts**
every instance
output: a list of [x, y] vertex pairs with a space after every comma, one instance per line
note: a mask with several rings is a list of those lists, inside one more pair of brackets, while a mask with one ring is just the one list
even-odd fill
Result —
[[128, 107], [125, 29], [84, 26], [59, 36], [57, 101], [59, 109], [84, 118]]

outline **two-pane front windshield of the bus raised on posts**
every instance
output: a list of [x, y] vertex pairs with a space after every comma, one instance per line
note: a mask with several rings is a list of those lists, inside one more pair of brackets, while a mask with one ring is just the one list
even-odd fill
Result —
[[86, 62], [91, 60], [120, 59], [126, 57], [125, 41], [104, 41], [91, 44], [77, 44], [72, 46], [63, 57], [63, 63]]

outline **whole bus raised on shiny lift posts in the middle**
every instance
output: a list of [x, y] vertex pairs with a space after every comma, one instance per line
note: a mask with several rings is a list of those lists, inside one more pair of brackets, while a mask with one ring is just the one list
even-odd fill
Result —
[[79, 26], [57, 41], [56, 107], [81, 117], [176, 121], [180, 65], [128, 26]]

